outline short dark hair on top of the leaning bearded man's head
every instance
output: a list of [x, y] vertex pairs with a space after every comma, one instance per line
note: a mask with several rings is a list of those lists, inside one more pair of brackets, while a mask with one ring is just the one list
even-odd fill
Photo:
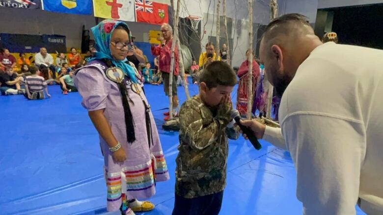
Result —
[[294, 29], [291, 29], [291, 24], [301, 24], [309, 26], [311, 25], [308, 23], [308, 18], [306, 16], [303, 16], [298, 13], [290, 13], [285, 14], [283, 16], [280, 16], [278, 18], [275, 18], [274, 20], [269, 23], [266, 28], [265, 32], [263, 33], [262, 39], [266, 38], [270, 39], [269, 36], [274, 37], [276, 33], [278, 34], [288, 34], [291, 31], [294, 31]]

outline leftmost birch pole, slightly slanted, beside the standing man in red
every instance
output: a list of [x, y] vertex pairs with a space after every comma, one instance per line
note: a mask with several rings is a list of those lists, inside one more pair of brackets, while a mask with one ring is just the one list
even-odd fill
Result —
[[171, 60], [170, 60], [170, 72], [169, 72], [169, 119], [173, 119], [173, 72], [174, 72], [174, 49], [178, 38], [178, 15], [180, 12], [180, 0], [177, 0], [177, 11], [174, 16], [174, 29], [173, 29], [173, 42], [171, 44]]

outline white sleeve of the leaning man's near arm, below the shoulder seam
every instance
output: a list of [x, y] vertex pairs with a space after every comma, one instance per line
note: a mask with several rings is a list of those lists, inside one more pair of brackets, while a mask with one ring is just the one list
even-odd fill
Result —
[[359, 193], [365, 128], [361, 121], [293, 114], [282, 122], [306, 215], [351, 215]]

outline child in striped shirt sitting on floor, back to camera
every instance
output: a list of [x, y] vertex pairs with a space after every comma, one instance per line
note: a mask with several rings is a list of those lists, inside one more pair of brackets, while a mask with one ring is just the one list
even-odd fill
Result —
[[31, 75], [27, 76], [25, 79], [26, 93], [24, 94], [24, 96], [32, 100], [43, 99], [45, 98], [45, 91], [48, 98], [50, 98], [51, 95], [49, 95], [48, 93], [47, 82], [43, 77], [36, 74], [37, 71], [39, 71], [39, 69], [36, 66], [32, 66], [29, 68], [29, 72], [31, 73]]

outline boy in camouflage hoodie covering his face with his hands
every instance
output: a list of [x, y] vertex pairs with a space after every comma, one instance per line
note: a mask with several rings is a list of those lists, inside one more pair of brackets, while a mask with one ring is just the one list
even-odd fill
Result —
[[180, 110], [173, 215], [218, 215], [226, 186], [227, 138], [233, 127], [230, 93], [237, 83], [227, 63], [214, 61], [200, 76], [199, 94]]

